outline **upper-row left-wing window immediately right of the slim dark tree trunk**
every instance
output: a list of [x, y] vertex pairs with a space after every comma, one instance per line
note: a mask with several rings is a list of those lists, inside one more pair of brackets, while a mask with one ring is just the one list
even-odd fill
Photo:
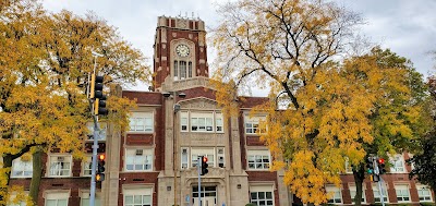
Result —
[[71, 162], [71, 155], [50, 155], [49, 177], [70, 177]]

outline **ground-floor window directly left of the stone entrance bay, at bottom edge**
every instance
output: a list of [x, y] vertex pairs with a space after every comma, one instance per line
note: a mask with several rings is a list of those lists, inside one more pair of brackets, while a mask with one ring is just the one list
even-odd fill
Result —
[[152, 206], [152, 189], [123, 190], [124, 206]]

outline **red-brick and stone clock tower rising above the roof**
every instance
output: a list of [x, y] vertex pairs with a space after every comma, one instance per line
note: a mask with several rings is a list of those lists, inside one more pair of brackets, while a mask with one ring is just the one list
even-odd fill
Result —
[[154, 89], [208, 77], [206, 31], [199, 19], [159, 16], [154, 45]]

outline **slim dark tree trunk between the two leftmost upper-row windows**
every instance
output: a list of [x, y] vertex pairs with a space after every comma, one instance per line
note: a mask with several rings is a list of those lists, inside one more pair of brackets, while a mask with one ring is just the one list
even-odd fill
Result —
[[43, 177], [43, 150], [38, 148], [33, 155], [33, 174], [29, 196], [35, 206], [38, 205], [39, 185]]

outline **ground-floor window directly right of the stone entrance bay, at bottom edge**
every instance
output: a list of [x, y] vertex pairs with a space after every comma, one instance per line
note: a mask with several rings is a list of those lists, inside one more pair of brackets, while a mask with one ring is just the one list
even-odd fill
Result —
[[274, 206], [272, 185], [250, 186], [250, 203], [257, 206]]

